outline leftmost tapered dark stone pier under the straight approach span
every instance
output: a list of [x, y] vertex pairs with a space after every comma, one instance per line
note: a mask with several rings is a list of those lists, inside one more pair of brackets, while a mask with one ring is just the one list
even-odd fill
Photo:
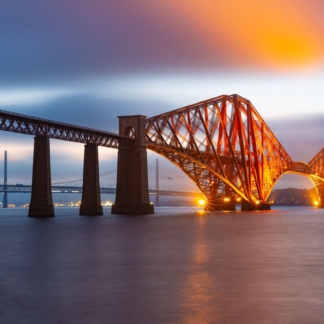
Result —
[[47, 136], [36, 136], [34, 138], [33, 179], [28, 216], [54, 216], [50, 145]]

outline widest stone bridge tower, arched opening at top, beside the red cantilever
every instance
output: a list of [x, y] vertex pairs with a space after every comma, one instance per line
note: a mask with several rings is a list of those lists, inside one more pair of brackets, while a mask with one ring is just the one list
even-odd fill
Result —
[[147, 174], [145, 116], [122, 116], [119, 118], [119, 134], [135, 133], [131, 149], [118, 150], [117, 190], [112, 214], [154, 214], [150, 203]]

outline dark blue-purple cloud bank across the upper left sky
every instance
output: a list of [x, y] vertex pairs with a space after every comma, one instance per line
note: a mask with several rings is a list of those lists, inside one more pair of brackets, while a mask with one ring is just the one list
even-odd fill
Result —
[[140, 0], [15, 2], [5, 1], [0, 12], [0, 82], [221, 67], [227, 60], [188, 21]]

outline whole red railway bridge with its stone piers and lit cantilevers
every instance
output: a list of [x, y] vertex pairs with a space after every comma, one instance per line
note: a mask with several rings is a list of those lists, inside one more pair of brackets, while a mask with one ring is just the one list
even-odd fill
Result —
[[49, 139], [85, 144], [80, 215], [101, 215], [98, 146], [118, 149], [112, 213], [149, 214], [147, 153], [185, 172], [207, 199], [207, 210], [270, 209], [267, 198], [287, 173], [307, 176], [324, 208], [324, 148], [308, 163], [293, 161], [252, 103], [222, 95], [158, 116], [119, 117], [119, 134], [0, 110], [0, 130], [34, 135], [29, 216], [54, 216]]

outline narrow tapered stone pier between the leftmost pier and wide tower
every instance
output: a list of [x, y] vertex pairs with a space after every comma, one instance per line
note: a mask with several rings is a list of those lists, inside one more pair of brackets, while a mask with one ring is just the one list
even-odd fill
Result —
[[100, 216], [103, 214], [100, 198], [98, 146], [84, 146], [83, 189], [79, 215]]

